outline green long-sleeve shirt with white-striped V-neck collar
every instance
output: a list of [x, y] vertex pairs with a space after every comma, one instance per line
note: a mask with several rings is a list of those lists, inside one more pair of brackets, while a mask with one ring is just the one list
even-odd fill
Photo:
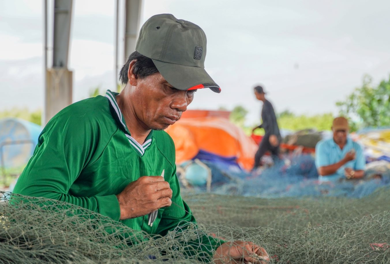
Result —
[[[55, 115], [39, 136], [14, 193], [82, 206], [149, 234], [164, 236], [181, 221], [196, 223], [180, 196], [172, 138], [165, 131], [152, 130], [143, 145], [137, 143], [116, 95], [108, 90], [105, 97], [79, 101]], [[152, 227], [147, 215], [119, 220], [115, 194], [141, 176], [161, 175], [163, 170], [173, 191], [172, 205], [159, 209]], [[223, 243], [210, 237], [200, 240], [208, 254]]]

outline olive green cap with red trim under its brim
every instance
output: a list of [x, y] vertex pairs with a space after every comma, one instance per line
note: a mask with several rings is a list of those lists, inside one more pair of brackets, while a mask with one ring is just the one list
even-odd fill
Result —
[[142, 25], [135, 50], [151, 58], [165, 80], [180, 90], [221, 88], [204, 69], [206, 34], [194, 23], [171, 14], [149, 18]]

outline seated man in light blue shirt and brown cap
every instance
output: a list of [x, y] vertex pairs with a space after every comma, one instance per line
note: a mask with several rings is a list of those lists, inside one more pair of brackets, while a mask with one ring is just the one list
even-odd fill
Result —
[[348, 121], [344, 117], [333, 120], [333, 138], [316, 145], [316, 166], [320, 181], [363, 178], [365, 159], [362, 147], [348, 138]]

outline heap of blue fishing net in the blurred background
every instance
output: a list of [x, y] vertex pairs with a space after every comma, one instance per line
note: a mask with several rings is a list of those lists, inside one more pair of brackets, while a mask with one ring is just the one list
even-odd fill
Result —
[[[337, 182], [320, 182], [314, 158], [310, 155], [286, 156], [273, 166], [257, 171], [246, 172], [225, 164], [202, 161], [211, 170], [211, 192], [215, 194], [231, 194], [239, 196], [255, 196], [260, 198], [286, 198], [305, 196], [333, 196], [362, 198], [372, 194], [380, 187], [390, 186], [390, 163], [375, 161], [367, 164], [365, 177], [360, 180], [341, 179]], [[186, 165], [186, 171], [197, 166]], [[196, 176], [201, 175], [202, 168], [194, 170]], [[183, 186], [184, 191], [202, 193], [206, 184]]]

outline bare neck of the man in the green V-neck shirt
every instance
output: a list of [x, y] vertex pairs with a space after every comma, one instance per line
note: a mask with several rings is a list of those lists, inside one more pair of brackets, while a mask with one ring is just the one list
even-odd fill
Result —
[[147, 126], [137, 117], [134, 105], [131, 101], [131, 94], [129, 94], [129, 89], [126, 88], [128, 87], [125, 87], [125, 89], [116, 96], [116, 100], [119, 109], [121, 109], [126, 126], [130, 131], [131, 137], [142, 145], [151, 129], [147, 128]]

